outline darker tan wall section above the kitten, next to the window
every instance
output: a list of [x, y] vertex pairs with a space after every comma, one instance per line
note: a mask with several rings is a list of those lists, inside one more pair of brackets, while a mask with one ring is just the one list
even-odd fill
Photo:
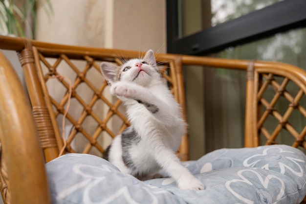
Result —
[[113, 48], [166, 52], [165, 0], [114, 0]]

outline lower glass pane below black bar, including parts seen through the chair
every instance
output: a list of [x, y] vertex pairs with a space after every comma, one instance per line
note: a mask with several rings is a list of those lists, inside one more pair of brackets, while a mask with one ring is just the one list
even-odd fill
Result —
[[[306, 28], [294, 29], [245, 45], [229, 47], [211, 56], [227, 59], [284, 62], [306, 70], [305, 36]], [[205, 111], [205, 118], [209, 118], [205, 120], [206, 151], [210, 152], [221, 146], [228, 148], [242, 147], [245, 114], [245, 72], [207, 68], [204, 70], [204, 82], [207, 82], [207, 85], [204, 86], [205, 110], [209, 110]], [[234, 89], [231, 87], [234, 87]], [[294, 92], [297, 87], [288, 84], [286, 89], [293, 89]], [[272, 98], [275, 91], [271, 89], [267, 94], [270, 94], [270, 98]], [[284, 99], [276, 104], [278, 109], [281, 110], [281, 114], [287, 110], [288, 103]], [[305, 95], [299, 103], [306, 108]], [[228, 119], [229, 117], [232, 119]], [[211, 118], [214, 118], [214, 120]], [[297, 113], [293, 113], [292, 118], [294, 119], [293, 123], [291, 120], [292, 126], [300, 132], [305, 127], [306, 118]], [[273, 121], [271, 127], [273, 126], [272, 123]], [[234, 127], [235, 129], [233, 129]], [[278, 136], [279, 142], [291, 145], [292, 141], [287, 134], [286, 131], [282, 131], [280, 137]], [[229, 141], [232, 140], [238, 141], [237, 144], [231, 144]]]

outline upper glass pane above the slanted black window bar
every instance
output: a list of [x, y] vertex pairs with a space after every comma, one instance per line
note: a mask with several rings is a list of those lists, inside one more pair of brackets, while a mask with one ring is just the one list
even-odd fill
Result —
[[179, 38], [282, 0], [178, 0]]

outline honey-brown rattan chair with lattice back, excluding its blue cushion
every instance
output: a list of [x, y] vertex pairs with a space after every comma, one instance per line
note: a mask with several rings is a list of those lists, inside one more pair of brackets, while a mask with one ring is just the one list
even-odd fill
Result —
[[[51, 198], [45, 162], [63, 153], [101, 156], [106, 141], [109, 142], [129, 126], [121, 101], [109, 95], [107, 82], [99, 74], [99, 64], [109, 61], [120, 65], [122, 56], [134, 58], [139, 53], [48, 44], [5, 36], [0, 36], [0, 48], [17, 51], [30, 99], [29, 102], [16, 73], [0, 53], [2, 198], [7, 204], [48, 204]], [[245, 70], [245, 147], [259, 146], [263, 136], [265, 144], [275, 144], [279, 132], [285, 129], [292, 135], [293, 147], [306, 149], [306, 125], [299, 131], [289, 120], [293, 112], [306, 118], [306, 106], [299, 103], [306, 95], [306, 71], [301, 68], [282, 63], [174, 54], [156, 54], [156, 59], [161, 66], [161, 74], [183, 108], [184, 117], [184, 65]], [[63, 77], [65, 74], [69, 80]], [[288, 83], [296, 84], [298, 90], [288, 92]], [[276, 90], [270, 102], [264, 98], [268, 86]], [[86, 96], [81, 92], [87, 93]], [[274, 106], [280, 98], [289, 101], [284, 114]], [[70, 108], [66, 113], [68, 103]], [[62, 127], [59, 124], [62, 124], [64, 114], [66, 126]], [[271, 115], [279, 121], [272, 134], [266, 130], [264, 123]], [[61, 135], [62, 130], [66, 130], [65, 139]], [[78, 141], [82, 145], [78, 145]], [[188, 160], [187, 135], [182, 137], [177, 155], [183, 161]]]

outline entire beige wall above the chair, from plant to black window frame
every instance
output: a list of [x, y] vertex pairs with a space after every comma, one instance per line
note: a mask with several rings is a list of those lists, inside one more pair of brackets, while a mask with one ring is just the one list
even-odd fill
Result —
[[37, 40], [68, 45], [166, 51], [165, 0], [51, 0], [38, 9]]

